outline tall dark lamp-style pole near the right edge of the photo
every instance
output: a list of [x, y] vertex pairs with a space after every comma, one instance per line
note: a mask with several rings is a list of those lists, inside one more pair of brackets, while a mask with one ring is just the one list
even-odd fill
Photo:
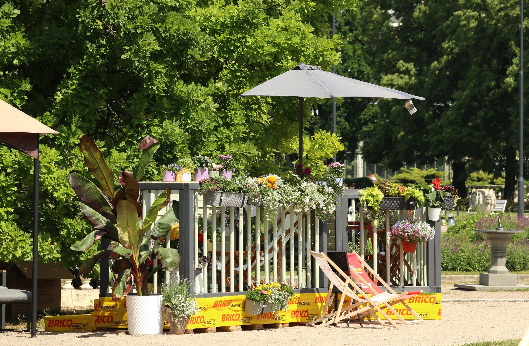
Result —
[[524, 0], [520, 0], [520, 116], [519, 116], [518, 216], [524, 214]]

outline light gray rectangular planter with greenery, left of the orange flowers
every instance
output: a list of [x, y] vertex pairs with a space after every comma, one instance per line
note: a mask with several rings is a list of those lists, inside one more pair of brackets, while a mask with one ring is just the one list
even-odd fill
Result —
[[244, 177], [230, 179], [223, 176], [203, 179], [198, 191], [207, 205], [215, 207], [244, 207], [248, 202]]

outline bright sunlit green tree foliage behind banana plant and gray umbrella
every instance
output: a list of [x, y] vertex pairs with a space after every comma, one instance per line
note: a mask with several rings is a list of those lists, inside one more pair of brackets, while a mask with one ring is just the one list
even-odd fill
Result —
[[[68, 172], [89, 176], [79, 139], [93, 138], [114, 175], [139, 161], [135, 143], [160, 141], [144, 180], [187, 154], [232, 154], [263, 171], [297, 141], [298, 101], [240, 93], [298, 62], [329, 70], [340, 62], [327, 13], [356, 0], [0, 1], [0, 98], [58, 135], [41, 140], [42, 260], [80, 263], [69, 247], [89, 233]], [[305, 102], [305, 126], [313, 122]], [[312, 136], [314, 135], [314, 136]], [[342, 147], [308, 133], [308, 160]], [[32, 162], [0, 147], [0, 260], [31, 255]], [[87, 251], [83, 256], [90, 256]]]

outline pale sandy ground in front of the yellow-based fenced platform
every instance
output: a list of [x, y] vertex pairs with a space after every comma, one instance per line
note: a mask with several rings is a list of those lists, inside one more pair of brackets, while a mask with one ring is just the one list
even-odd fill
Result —
[[[525, 292], [527, 294], [527, 292]], [[504, 295], [505, 297], [505, 295]], [[148, 345], [457, 345], [464, 342], [521, 338], [529, 325], [529, 302], [444, 302], [443, 320], [403, 326], [400, 331], [369, 323], [355, 330], [345, 325], [328, 328], [296, 326], [263, 331], [194, 335], [130, 336], [124, 332], [0, 333], [2, 345], [139, 344]]]

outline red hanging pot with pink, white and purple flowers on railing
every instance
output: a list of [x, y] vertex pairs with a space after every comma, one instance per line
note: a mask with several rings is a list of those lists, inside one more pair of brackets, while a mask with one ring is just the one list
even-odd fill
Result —
[[432, 240], [435, 229], [424, 221], [410, 221], [403, 219], [395, 222], [389, 234], [393, 239], [400, 239], [405, 253], [414, 253], [418, 242]]

